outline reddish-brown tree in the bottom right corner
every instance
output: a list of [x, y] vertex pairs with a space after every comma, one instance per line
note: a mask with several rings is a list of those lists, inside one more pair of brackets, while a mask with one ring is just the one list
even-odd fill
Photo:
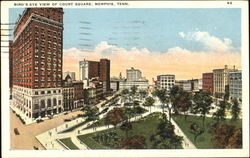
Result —
[[218, 124], [213, 128], [212, 137], [217, 148], [242, 148], [242, 132], [235, 126]]

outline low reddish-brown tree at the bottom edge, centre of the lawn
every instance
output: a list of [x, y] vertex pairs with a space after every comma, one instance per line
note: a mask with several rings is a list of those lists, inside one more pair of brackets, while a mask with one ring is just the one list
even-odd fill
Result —
[[145, 146], [145, 138], [137, 135], [125, 138], [118, 143], [119, 149], [144, 149]]

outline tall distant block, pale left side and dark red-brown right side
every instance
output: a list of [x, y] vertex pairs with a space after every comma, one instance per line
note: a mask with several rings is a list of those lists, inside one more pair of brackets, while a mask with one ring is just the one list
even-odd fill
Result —
[[79, 62], [80, 80], [84, 81], [86, 86], [90, 85], [92, 78], [99, 77], [102, 81], [103, 92], [110, 91], [110, 60], [101, 59], [100, 62], [85, 60]]

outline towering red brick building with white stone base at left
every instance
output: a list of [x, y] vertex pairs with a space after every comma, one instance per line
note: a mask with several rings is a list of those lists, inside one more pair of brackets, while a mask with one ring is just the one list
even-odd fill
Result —
[[14, 28], [13, 101], [27, 123], [63, 111], [62, 8], [28, 8]]

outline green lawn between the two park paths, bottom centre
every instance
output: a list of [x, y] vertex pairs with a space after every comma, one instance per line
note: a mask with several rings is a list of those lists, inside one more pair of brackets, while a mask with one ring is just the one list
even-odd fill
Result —
[[[146, 148], [150, 149], [152, 146], [152, 143], [150, 141], [150, 136], [156, 133], [157, 126], [160, 123], [160, 119], [161, 119], [161, 113], [152, 113], [148, 115], [147, 117], [140, 119], [137, 122], [133, 122], [132, 123], [133, 128], [132, 130], [128, 132], [128, 136], [140, 135], [140, 136], [145, 137]], [[78, 136], [78, 138], [92, 149], [107, 149], [107, 148], [114, 149], [115, 146], [104, 145], [93, 139], [96, 135], [98, 135], [98, 133], [107, 134], [111, 130], [114, 130], [114, 129], [112, 128], [112, 129], [108, 129], [105, 131], [96, 132], [96, 133], [92, 133], [88, 135], [81, 135], [81, 136]], [[122, 131], [119, 128], [117, 128], [114, 131], [117, 133], [119, 138], [126, 137], [125, 131]]]

